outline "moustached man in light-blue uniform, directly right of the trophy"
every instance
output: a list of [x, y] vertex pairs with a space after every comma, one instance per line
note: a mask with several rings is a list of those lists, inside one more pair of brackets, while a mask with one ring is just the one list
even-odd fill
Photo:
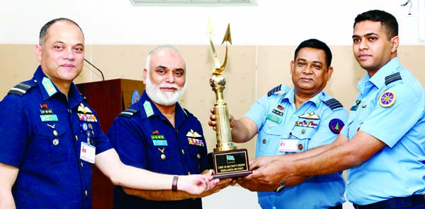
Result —
[[[290, 73], [294, 88], [278, 85], [257, 100], [242, 119], [233, 120], [232, 141], [244, 143], [257, 133], [256, 157], [301, 153], [329, 144], [346, 124], [348, 113], [323, 92], [331, 78], [331, 50], [319, 40], [305, 40], [295, 49]], [[282, 93], [277, 93], [282, 91]], [[210, 117], [215, 125], [215, 117]], [[255, 169], [255, 167], [251, 167]], [[312, 177], [285, 191], [270, 191], [255, 181], [239, 184], [258, 193], [262, 208], [341, 208], [345, 181], [341, 173]], [[273, 189], [276, 189], [273, 188]]]

